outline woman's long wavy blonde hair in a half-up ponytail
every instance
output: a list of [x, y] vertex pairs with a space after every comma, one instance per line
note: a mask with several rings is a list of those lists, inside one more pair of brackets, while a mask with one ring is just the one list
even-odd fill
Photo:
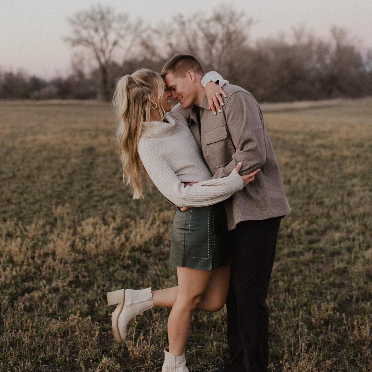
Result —
[[[155, 99], [155, 87], [158, 97]], [[141, 68], [131, 75], [122, 76], [116, 83], [113, 95], [113, 107], [118, 118], [116, 140], [120, 146], [120, 159], [123, 166], [123, 182], [130, 185], [134, 191], [133, 199], [143, 198], [141, 170], [150, 182], [140, 156], [138, 155], [138, 140], [144, 129], [144, 123], [150, 121], [151, 99], [158, 105], [161, 118], [165, 110], [161, 104], [164, 93], [163, 79], [160, 74]]]

